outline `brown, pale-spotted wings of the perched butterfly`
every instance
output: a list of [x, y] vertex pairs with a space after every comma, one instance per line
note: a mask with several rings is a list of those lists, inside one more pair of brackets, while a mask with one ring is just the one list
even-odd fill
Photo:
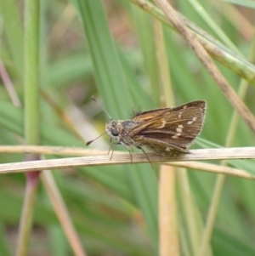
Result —
[[140, 124], [133, 128], [130, 135], [134, 141], [154, 151], [173, 149], [186, 152], [201, 132], [205, 110], [205, 101], [197, 100], [172, 109], [143, 112], [133, 118]]

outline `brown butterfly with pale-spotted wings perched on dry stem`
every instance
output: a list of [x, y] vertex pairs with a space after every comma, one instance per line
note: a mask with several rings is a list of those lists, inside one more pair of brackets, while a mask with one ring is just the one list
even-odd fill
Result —
[[[99, 104], [94, 97], [93, 100]], [[130, 120], [113, 120], [105, 111], [111, 119], [105, 125], [105, 133], [110, 135], [111, 141], [115, 141], [114, 144], [127, 148], [131, 161], [133, 147], [142, 150], [149, 161], [144, 147], [162, 155], [181, 155], [190, 152], [190, 145], [201, 133], [206, 109], [206, 101], [195, 100], [173, 108], [139, 111]], [[93, 141], [88, 141], [87, 145]]]

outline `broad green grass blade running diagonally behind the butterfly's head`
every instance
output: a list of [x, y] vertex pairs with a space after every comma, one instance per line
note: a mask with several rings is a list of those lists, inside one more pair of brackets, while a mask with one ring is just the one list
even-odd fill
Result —
[[[100, 1], [77, 1], [78, 12], [88, 39], [90, 54], [94, 64], [94, 73], [99, 93], [111, 116], [124, 117], [127, 110], [133, 108], [127, 87], [127, 78], [116, 45], [110, 35], [105, 11]], [[123, 104], [124, 103], [124, 104]], [[150, 165], [125, 168], [127, 182], [133, 190], [139, 208], [150, 233], [151, 241], [157, 248], [157, 184], [153, 170], [146, 170]], [[111, 173], [109, 173], [111, 174]]]

